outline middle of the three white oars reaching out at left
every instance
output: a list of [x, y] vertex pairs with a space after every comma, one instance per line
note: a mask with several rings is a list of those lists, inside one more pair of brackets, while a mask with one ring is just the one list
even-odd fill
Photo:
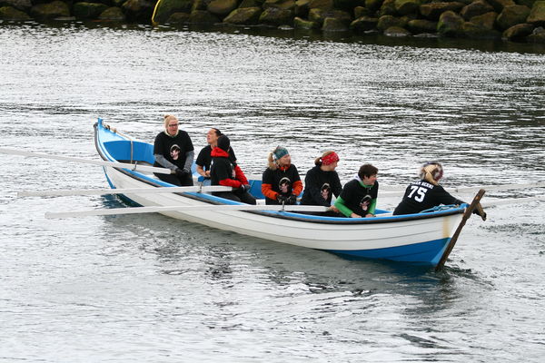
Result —
[[54, 190], [54, 191], [18, 191], [18, 197], [61, 197], [68, 195], [104, 195], [104, 194], [161, 194], [187, 191], [233, 191], [231, 187], [222, 185], [212, 186], [193, 186], [193, 187], [163, 187], [163, 188], [126, 188], [126, 189], [74, 189], [74, 190]]

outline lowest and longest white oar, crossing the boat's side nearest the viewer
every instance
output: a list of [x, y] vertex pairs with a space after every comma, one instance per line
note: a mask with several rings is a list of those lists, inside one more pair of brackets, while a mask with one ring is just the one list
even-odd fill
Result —
[[74, 218], [114, 214], [157, 213], [162, 211], [327, 211], [327, 207], [319, 205], [173, 205], [163, 207], [128, 207], [107, 210], [62, 211], [45, 213], [45, 218]]

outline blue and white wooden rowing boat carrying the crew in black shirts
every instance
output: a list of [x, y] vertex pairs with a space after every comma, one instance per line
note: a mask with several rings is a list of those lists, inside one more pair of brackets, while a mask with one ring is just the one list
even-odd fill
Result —
[[[166, 208], [161, 213], [218, 230], [324, 250], [351, 259], [383, 259], [436, 266], [468, 207], [463, 204], [441, 211], [402, 216], [392, 216], [390, 211], [378, 210], [376, 217], [365, 219], [322, 217], [293, 211], [222, 209], [225, 205], [242, 203], [204, 191], [138, 192], [138, 189], [143, 188], [173, 187], [160, 181], [152, 172], [140, 172], [136, 168], [137, 165], [154, 163], [153, 144], [133, 140], [124, 133], [116, 132], [102, 119], [94, 124], [94, 142], [98, 154], [105, 162], [135, 165], [134, 168], [103, 168], [111, 188], [136, 189], [127, 191], [124, 197], [139, 205], [170, 206], [173, 208]], [[250, 183], [253, 196], [263, 199], [261, 181], [253, 180]], [[183, 209], [184, 206], [209, 207]]]

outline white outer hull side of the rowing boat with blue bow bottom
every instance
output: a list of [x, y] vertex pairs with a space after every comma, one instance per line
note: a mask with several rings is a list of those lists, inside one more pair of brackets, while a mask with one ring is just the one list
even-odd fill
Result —
[[[143, 188], [146, 185], [154, 188], [154, 186], [134, 179], [131, 176], [133, 172], [122, 172], [109, 167], [104, 170], [108, 181], [114, 188]], [[186, 198], [180, 194], [141, 193], [128, 194], [126, 197], [142, 206], [209, 204]], [[446, 246], [462, 216], [459, 213], [442, 218], [416, 221], [328, 224], [284, 220], [247, 211], [165, 211], [162, 214], [178, 220], [200, 223], [219, 230], [233, 231], [264, 240], [275, 240], [295, 246], [360, 257], [372, 258], [375, 255], [384, 255], [379, 258], [419, 262], [418, 255], [436, 251], [437, 257], [431, 259], [431, 264], [436, 264], [442, 255], [442, 249], [438, 250], [436, 245]], [[420, 245], [420, 248], [417, 245]], [[421, 251], [414, 255], [416, 248]], [[388, 250], [391, 250], [390, 253]], [[403, 256], [403, 254], [413, 256]]]

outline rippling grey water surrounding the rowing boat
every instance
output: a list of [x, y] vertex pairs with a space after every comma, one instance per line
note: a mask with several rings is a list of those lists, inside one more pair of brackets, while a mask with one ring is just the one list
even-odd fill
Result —
[[[153, 142], [173, 113], [197, 150], [227, 133], [248, 174], [282, 144], [302, 173], [335, 150], [344, 182], [372, 162], [404, 185], [427, 160], [446, 187], [543, 182], [545, 52], [450, 42], [0, 24], [0, 147], [98, 160], [97, 117]], [[0, 361], [542, 361], [543, 201], [471, 218], [435, 272], [157, 214], [45, 220], [123, 201], [16, 195], [104, 187], [0, 154]]]

